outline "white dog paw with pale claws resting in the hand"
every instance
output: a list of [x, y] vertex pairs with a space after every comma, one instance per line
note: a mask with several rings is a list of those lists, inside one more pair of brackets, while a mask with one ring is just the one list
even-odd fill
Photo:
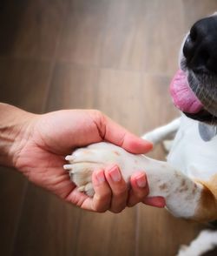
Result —
[[[109, 143], [97, 143], [85, 148], [79, 148], [65, 159], [69, 161], [63, 168], [69, 171], [70, 179], [76, 184], [80, 192], [85, 192], [92, 197], [95, 193], [92, 185], [92, 173], [108, 165], [118, 165], [123, 171], [126, 165], [128, 152]], [[129, 158], [128, 158], [129, 159]], [[127, 161], [128, 163], [128, 161]], [[130, 168], [129, 164], [129, 168]], [[122, 172], [123, 177], [126, 174]]]

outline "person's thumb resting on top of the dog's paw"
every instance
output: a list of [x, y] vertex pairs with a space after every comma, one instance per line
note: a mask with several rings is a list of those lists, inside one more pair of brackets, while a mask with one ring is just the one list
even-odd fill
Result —
[[153, 148], [152, 143], [136, 137], [121, 125], [117, 125], [112, 119], [103, 115], [102, 112], [89, 111], [89, 113], [94, 119], [102, 140], [107, 140], [115, 145], [119, 145], [126, 151], [135, 154], [146, 153]]

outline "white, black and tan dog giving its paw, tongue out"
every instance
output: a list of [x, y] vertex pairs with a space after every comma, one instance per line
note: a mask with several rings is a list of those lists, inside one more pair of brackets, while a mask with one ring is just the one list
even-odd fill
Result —
[[[119, 165], [126, 181], [144, 170], [150, 196], [162, 196], [175, 216], [217, 219], [217, 16], [201, 19], [181, 46], [180, 68], [170, 85], [181, 118], [145, 134], [153, 144], [176, 135], [168, 162], [133, 155], [107, 143], [89, 145], [67, 156], [64, 165], [82, 192], [93, 195], [91, 174]], [[187, 254], [188, 255], [188, 254]]]

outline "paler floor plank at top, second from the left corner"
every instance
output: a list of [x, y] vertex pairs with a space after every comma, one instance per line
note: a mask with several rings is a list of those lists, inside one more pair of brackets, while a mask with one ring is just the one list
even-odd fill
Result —
[[58, 59], [76, 64], [100, 64], [102, 38], [109, 2], [106, 0], [70, 1]]

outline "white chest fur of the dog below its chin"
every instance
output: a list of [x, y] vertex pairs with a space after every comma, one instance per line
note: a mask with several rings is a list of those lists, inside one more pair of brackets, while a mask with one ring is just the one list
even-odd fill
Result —
[[168, 163], [190, 179], [212, 182], [217, 175], [217, 136], [204, 141], [199, 125], [198, 121], [181, 116], [180, 128], [168, 154]]

